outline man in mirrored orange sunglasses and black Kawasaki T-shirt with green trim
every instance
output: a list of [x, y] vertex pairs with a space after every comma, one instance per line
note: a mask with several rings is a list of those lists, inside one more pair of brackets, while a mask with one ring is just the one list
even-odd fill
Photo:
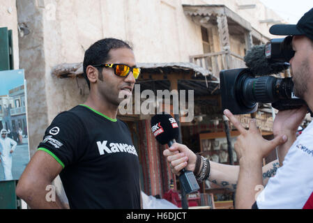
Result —
[[31, 208], [63, 208], [59, 197], [45, 199], [60, 174], [70, 208], [141, 208], [137, 151], [128, 126], [116, 118], [140, 73], [135, 55], [127, 43], [107, 38], [86, 50], [83, 66], [89, 97], [54, 118], [17, 196]]

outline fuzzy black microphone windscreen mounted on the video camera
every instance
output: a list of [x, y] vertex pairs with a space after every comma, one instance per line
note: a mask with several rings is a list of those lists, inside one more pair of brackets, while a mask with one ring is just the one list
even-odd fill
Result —
[[288, 63], [270, 63], [265, 56], [265, 45], [253, 46], [243, 60], [253, 75], [278, 74], [289, 68]]

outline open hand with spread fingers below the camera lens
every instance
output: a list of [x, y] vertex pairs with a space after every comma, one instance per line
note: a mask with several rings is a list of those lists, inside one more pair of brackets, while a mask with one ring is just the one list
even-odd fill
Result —
[[224, 115], [229, 118], [229, 121], [241, 133], [235, 143], [235, 150], [238, 155], [240, 164], [254, 165], [255, 162], [260, 162], [263, 157], [266, 157], [270, 151], [287, 141], [287, 136], [279, 135], [273, 140], [266, 140], [262, 137], [261, 132], [257, 128], [255, 119], [249, 123], [249, 130], [245, 130], [238, 119], [231, 114], [228, 109], [224, 110]]

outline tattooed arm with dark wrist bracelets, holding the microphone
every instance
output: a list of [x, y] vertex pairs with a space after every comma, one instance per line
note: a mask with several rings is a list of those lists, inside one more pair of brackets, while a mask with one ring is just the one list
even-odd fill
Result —
[[[167, 157], [167, 161], [171, 164], [171, 171], [174, 174], [178, 174], [183, 168], [194, 171], [196, 155], [187, 146], [177, 143], [173, 144], [173, 146], [163, 152], [163, 155]], [[210, 166], [209, 181], [231, 191], [236, 190], [239, 166], [220, 164], [213, 161], [210, 161]], [[274, 160], [262, 167], [263, 185], [266, 185], [268, 179], [275, 175], [278, 167], [278, 160]]]

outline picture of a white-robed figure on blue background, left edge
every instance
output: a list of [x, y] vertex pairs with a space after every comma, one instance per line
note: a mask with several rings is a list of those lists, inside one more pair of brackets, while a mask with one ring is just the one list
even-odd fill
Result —
[[24, 70], [0, 71], [0, 181], [18, 180], [29, 163]]

